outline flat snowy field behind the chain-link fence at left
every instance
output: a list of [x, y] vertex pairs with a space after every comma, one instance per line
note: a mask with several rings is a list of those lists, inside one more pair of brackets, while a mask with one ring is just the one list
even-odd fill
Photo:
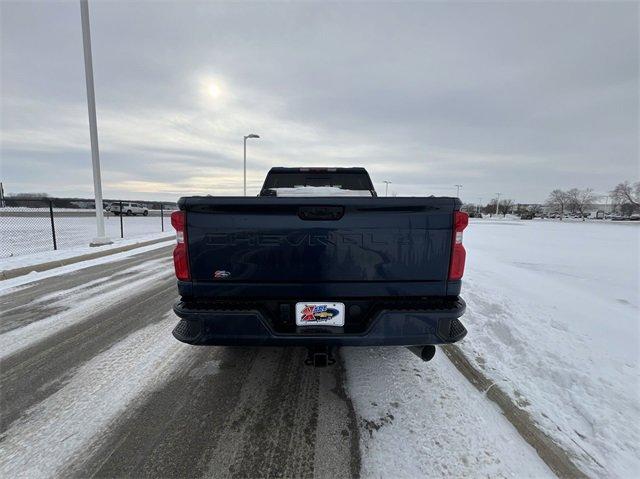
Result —
[[[106, 234], [120, 239], [120, 218], [105, 216]], [[92, 216], [56, 216], [56, 241], [59, 250], [88, 245], [96, 236], [96, 220]], [[157, 216], [125, 216], [124, 238], [139, 238], [162, 232]], [[172, 232], [171, 222], [164, 218], [165, 232]], [[0, 260], [25, 254], [53, 251], [51, 220], [48, 217], [0, 217]]]

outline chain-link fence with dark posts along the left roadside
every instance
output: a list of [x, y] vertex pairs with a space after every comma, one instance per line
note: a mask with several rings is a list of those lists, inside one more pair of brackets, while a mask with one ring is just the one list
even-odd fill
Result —
[[[0, 204], [0, 259], [88, 246], [96, 236], [91, 206], [56, 198], [5, 198]], [[109, 201], [104, 210], [106, 234], [116, 239], [169, 231], [174, 209], [169, 203]]]

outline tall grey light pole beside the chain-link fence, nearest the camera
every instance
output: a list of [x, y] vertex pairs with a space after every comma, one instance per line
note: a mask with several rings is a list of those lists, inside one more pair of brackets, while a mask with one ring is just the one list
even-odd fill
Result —
[[93, 193], [96, 204], [97, 236], [90, 246], [110, 244], [104, 231], [102, 211], [102, 179], [100, 177], [100, 153], [98, 152], [98, 124], [96, 121], [96, 95], [93, 90], [93, 60], [91, 58], [91, 31], [89, 30], [89, 4], [80, 0], [80, 18], [82, 19], [82, 46], [84, 48], [84, 75], [87, 84], [87, 107], [89, 110], [89, 136], [91, 138], [91, 163], [93, 165]]

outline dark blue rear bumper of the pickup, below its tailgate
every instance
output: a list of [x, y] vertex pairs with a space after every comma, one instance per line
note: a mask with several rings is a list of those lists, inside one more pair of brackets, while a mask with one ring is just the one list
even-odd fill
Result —
[[466, 305], [460, 298], [451, 307], [429, 310], [382, 309], [358, 334], [343, 328], [276, 332], [255, 309], [206, 309], [178, 301], [173, 310], [181, 321], [173, 330], [179, 341], [196, 345], [237, 346], [415, 346], [460, 341], [467, 330], [458, 318]]

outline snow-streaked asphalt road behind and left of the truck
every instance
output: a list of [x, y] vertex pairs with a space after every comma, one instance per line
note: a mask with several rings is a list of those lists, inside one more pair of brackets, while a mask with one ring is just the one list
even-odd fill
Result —
[[[0, 296], [0, 333], [12, 341], [0, 353], [2, 471], [358, 476], [358, 426], [340, 360], [314, 369], [300, 349], [194, 347], [169, 338], [177, 322], [170, 252], [162, 247]], [[157, 366], [136, 376], [151, 353]], [[167, 368], [156, 380], [155, 371]], [[70, 399], [66, 386], [76, 388]], [[45, 446], [36, 453], [25, 446], [38, 441]]]

